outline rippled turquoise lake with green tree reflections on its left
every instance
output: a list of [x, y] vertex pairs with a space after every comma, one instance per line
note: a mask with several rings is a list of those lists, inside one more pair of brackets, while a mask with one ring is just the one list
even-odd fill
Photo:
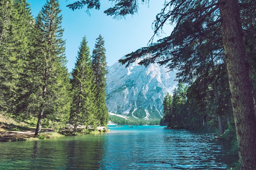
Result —
[[238, 160], [213, 133], [109, 126], [109, 133], [0, 142], [0, 169], [227, 169]]

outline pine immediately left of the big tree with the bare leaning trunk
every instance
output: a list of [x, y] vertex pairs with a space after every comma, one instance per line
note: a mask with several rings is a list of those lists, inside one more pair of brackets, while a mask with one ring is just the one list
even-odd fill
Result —
[[15, 102], [15, 117], [17, 119], [28, 119], [30, 115], [25, 110], [28, 100], [27, 96], [31, 91], [31, 85], [33, 81], [32, 72], [34, 70], [31, 68], [33, 60], [31, 60], [31, 55], [33, 53], [33, 41], [35, 36], [35, 22], [34, 18], [31, 16], [31, 10], [29, 4], [26, 0], [15, 0], [14, 8], [18, 11], [16, 18], [18, 18], [17, 28], [16, 28], [16, 53], [20, 60], [18, 63], [19, 77], [17, 82], [16, 96], [17, 100]]

